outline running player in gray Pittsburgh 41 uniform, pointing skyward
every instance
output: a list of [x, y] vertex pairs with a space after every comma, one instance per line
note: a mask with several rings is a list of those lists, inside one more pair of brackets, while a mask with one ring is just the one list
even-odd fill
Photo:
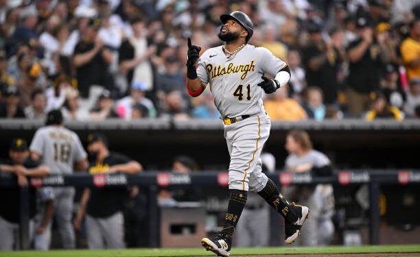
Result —
[[[231, 156], [226, 221], [218, 236], [202, 238], [201, 244], [218, 256], [229, 256], [247, 191], [257, 192], [284, 217], [285, 243], [292, 243], [299, 236], [309, 209], [290, 204], [280, 194], [275, 183], [261, 172], [259, 158], [270, 134], [262, 90], [270, 94], [287, 84], [290, 70], [268, 49], [247, 44], [254, 26], [246, 14], [223, 14], [220, 20], [223, 26], [218, 36], [225, 45], [208, 49], [199, 59], [201, 47], [191, 45], [188, 39], [187, 90], [197, 97], [209, 85], [224, 121], [224, 137]], [[264, 77], [264, 73], [274, 79]]]

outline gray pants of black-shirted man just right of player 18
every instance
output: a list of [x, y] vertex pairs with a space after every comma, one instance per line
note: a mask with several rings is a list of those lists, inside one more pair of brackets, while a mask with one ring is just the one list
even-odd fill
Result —
[[105, 245], [108, 249], [125, 248], [122, 212], [106, 218], [86, 215], [86, 234], [89, 249], [105, 249]]

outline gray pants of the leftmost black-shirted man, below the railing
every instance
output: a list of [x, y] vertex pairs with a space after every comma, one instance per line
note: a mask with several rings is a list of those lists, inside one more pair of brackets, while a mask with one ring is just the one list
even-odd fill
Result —
[[[21, 249], [21, 237], [19, 236], [19, 223], [12, 223], [0, 216], [0, 251], [14, 251]], [[34, 234], [34, 221], [30, 220], [29, 235], [32, 241]]]

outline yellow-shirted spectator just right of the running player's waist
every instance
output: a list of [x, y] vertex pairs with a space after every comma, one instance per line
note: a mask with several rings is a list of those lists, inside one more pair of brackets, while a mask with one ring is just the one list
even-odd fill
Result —
[[264, 108], [272, 121], [300, 121], [307, 118], [305, 110], [297, 101], [288, 97], [288, 86], [279, 88], [272, 99], [267, 99]]

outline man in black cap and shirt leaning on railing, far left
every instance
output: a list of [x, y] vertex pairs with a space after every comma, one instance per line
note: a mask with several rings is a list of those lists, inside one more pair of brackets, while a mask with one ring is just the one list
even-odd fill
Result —
[[[43, 177], [49, 175], [49, 168], [40, 165], [29, 156], [27, 143], [22, 138], [12, 140], [9, 151], [10, 160], [0, 164], [0, 176], [11, 176], [19, 186], [27, 186], [27, 176]], [[20, 188], [0, 188], [0, 251], [19, 249], [17, 236], [19, 233], [20, 217]], [[36, 188], [30, 187], [29, 216], [32, 219], [36, 213]], [[30, 221], [32, 222], [32, 221]], [[30, 232], [30, 234], [32, 234]]]

